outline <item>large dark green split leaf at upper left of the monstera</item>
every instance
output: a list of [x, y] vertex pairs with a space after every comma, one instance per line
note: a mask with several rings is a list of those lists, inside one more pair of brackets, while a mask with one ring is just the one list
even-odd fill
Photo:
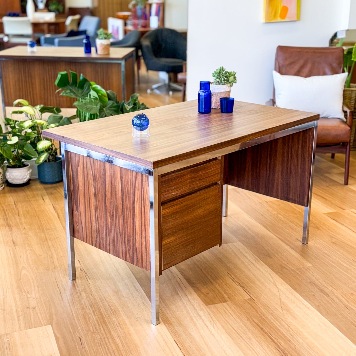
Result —
[[63, 90], [61, 95], [82, 99], [87, 97], [91, 87], [89, 80], [83, 74], [80, 74], [78, 81], [78, 74], [72, 71], [70, 71], [70, 81], [67, 72], [59, 72], [54, 84], [59, 90]]

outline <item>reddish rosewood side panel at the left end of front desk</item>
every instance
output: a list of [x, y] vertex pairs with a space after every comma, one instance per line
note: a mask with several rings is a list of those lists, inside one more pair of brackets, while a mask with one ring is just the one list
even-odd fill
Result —
[[150, 271], [149, 177], [68, 152], [74, 237]]

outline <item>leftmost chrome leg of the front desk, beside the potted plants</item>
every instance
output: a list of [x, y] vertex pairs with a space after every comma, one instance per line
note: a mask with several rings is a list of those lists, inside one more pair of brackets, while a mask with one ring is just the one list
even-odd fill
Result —
[[63, 187], [64, 187], [64, 209], [66, 211], [66, 231], [67, 231], [67, 250], [68, 250], [68, 269], [69, 279], [75, 279], [75, 256], [74, 256], [74, 234], [73, 234], [73, 212], [72, 212], [72, 195], [69, 185], [68, 171], [68, 151], [64, 148], [64, 143], [61, 142], [62, 152], [62, 169], [63, 169]]

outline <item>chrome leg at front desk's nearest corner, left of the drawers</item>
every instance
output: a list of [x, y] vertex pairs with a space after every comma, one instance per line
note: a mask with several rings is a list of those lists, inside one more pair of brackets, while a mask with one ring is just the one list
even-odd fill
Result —
[[[151, 175], [152, 174], [152, 175]], [[150, 172], [150, 255], [151, 255], [151, 316], [159, 324], [159, 252], [158, 252], [158, 184], [157, 171]]]

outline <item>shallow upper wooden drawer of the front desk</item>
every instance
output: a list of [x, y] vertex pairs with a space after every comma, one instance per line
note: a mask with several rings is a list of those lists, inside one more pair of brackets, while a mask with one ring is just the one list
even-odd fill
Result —
[[221, 159], [187, 167], [161, 177], [161, 202], [188, 194], [221, 179]]

